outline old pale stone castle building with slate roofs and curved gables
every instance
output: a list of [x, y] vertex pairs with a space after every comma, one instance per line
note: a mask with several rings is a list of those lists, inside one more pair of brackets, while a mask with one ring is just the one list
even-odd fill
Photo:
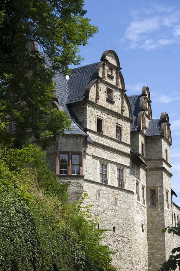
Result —
[[126, 95], [113, 50], [70, 76], [57, 73], [55, 82], [54, 106], [67, 111], [72, 129], [54, 140], [50, 168], [71, 182], [72, 198], [87, 191], [98, 227], [110, 230], [104, 242], [116, 252], [115, 266], [155, 271], [179, 241], [161, 232], [180, 217], [172, 202], [168, 114], [152, 119], [147, 86]]

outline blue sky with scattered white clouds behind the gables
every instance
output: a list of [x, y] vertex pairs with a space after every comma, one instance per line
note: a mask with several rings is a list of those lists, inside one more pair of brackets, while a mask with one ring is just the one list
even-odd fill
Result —
[[100, 60], [104, 50], [119, 56], [127, 95], [148, 86], [153, 118], [170, 117], [172, 188], [180, 206], [180, 2], [85, 0], [86, 17], [99, 33], [80, 47], [82, 65]]

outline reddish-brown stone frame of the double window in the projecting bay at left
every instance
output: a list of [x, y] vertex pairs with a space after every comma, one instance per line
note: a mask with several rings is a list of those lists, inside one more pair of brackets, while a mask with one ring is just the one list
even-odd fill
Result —
[[[68, 154], [68, 174], [60, 174], [60, 154]], [[80, 174], [72, 174], [72, 154], [79, 154], [79, 171]], [[60, 175], [60, 176], [69, 176], [69, 177], [80, 177], [80, 176], [84, 176], [83, 173], [83, 162], [84, 162], [84, 155], [83, 155], [83, 151], [61, 151], [58, 150], [56, 152], [56, 174]]]

